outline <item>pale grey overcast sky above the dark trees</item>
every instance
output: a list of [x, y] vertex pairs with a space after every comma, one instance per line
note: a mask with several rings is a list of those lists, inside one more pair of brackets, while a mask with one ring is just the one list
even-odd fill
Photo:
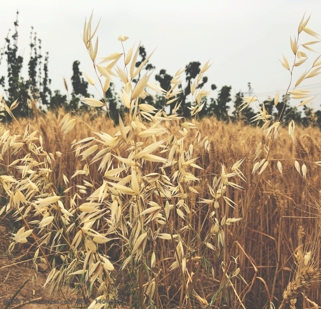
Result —
[[[305, 11], [306, 18], [312, 13], [307, 27], [321, 34], [320, 0], [12, 0], [1, 5], [1, 48], [9, 28], [13, 34], [17, 10], [18, 48], [24, 57], [22, 76], [28, 76], [30, 29], [33, 26], [42, 40], [42, 54], [49, 52], [51, 90], [60, 89], [62, 94], [65, 94], [64, 77], [72, 89], [75, 60], [80, 61], [83, 71], [94, 76], [91, 59], [82, 41], [84, 21], [86, 17], [88, 20], [92, 10], [92, 28], [101, 17], [96, 33], [99, 37], [98, 58], [122, 52], [117, 41], [122, 34], [129, 36], [125, 42], [126, 51], [139, 41], [147, 54], [156, 48], [150, 62], [156, 66], [157, 74], [164, 68], [173, 76], [191, 61], [203, 65], [211, 59], [213, 65], [205, 74], [208, 77], [206, 90], [211, 90], [211, 84], [216, 84], [218, 90], [224, 85], [232, 86], [233, 99], [240, 90], [247, 95], [248, 82], [260, 100], [274, 97], [278, 90], [282, 98], [290, 73], [278, 59], [282, 59], [283, 53], [290, 64], [293, 63], [290, 35], [292, 39], [297, 36]], [[303, 32], [299, 39], [299, 43], [316, 40]], [[317, 53], [308, 51], [307, 65], [294, 69], [293, 84], [321, 52], [321, 43], [311, 47]], [[299, 50], [306, 52], [302, 47]], [[0, 76], [6, 74], [4, 56]], [[312, 95], [318, 94], [309, 106], [321, 109], [321, 74], [305, 80], [299, 87], [311, 90]], [[94, 87], [89, 85], [88, 90], [100, 99]], [[212, 97], [217, 97], [217, 91]], [[293, 104], [299, 102], [292, 100]]]

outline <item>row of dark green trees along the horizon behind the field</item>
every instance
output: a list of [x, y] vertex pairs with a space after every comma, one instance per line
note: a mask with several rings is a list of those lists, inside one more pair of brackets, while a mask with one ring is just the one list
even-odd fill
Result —
[[[5, 47], [1, 50], [0, 56], [0, 65], [3, 59], [3, 56], [7, 57], [7, 82], [5, 81], [5, 77], [0, 77], [0, 85], [4, 88], [5, 94], [7, 96], [7, 101], [12, 103], [18, 99], [21, 102], [16, 109], [13, 110], [13, 114], [16, 117], [29, 117], [32, 116], [33, 112], [28, 108], [26, 104], [27, 99], [34, 99], [40, 102], [39, 111], [43, 114], [46, 113], [46, 110], [56, 110], [60, 107], [65, 108], [66, 111], [73, 110], [77, 113], [89, 112], [89, 106], [82, 104], [79, 105], [79, 97], [93, 97], [93, 95], [88, 93], [88, 82], [83, 78], [82, 72], [79, 69], [80, 62], [74, 61], [73, 63], [73, 75], [71, 77], [71, 84], [73, 87], [71, 98], [69, 98], [69, 89], [67, 86], [67, 82], [65, 80], [65, 88], [67, 95], [63, 95], [60, 90], [55, 90], [54, 94], [52, 94], [50, 90], [51, 79], [48, 77], [48, 52], [46, 52], [46, 56], [43, 60], [42, 50], [41, 50], [41, 40], [37, 38], [37, 33], [33, 32], [33, 27], [31, 27], [30, 32], [30, 60], [28, 63], [28, 79], [24, 79], [21, 76], [22, 65], [23, 65], [23, 57], [18, 56], [18, 14], [17, 18], [14, 22], [14, 34], [12, 35], [12, 40], [9, 39], [9, 34], [5, 39]], [[6, 50], [5, 50], [6, 48]], [[136, 62], [136, 67], [146, 59], [146, 50], [143, 46], [139, 49], [139, 61]], [[194, 61], [190, 62], [186, 65], [186, 83], [183, 85], [180, 83], [179, 89], [181, 93], [179, 94], [178, 102], [181, 102], [180, 109], [178, 113], [183, 115], [184, 117], [190, 117], [190, 109], [191, 101], [190, 101], [190, 83], [194, 81], [195, 77], [199, 74], [201, 68], [201, 63]], [[147, 70], [154, 69], [155, 67], [148, 62], [146, 67]], [[140, 76], [134, 80], [134, 83], [137, 83]], [[172, 76], [170, 76], [165, 69], [161, 69], [160, 73], [155, 76], [156, 81], [160, 84], [160, 86], [168, 90], [170, 88], [170, 82], [172, 80]], [[205, 84], [208, 82], [208, 78], [206, 76], [203, 77], [202, 82], [199, 84], [199, 88], [203, 88]], [[249, 92], [251, 92], [251, 84], [248, 83]], [[231, 106], [229, 103], [232, 101], [231, 99], [231, 86], [223, 86], [221, 90], [218, 91], [218, 96], [216, 99], [210, 98], [210, 102], [207, 99], [204, 99], [203, 103], [204, 107], [198, 114], [199, 117], [205, 116], [216, 116], [218, 120], [222, 121], [232, 121], [239, 122], [242, 121], [244, 123], [249, 124], [252, 117], [254, 117], [257, 113], [251, 107], [247, 107], [241, 112], [238, 112], [237, 107], [242, 102], [243, 93], [239, 92], [235, 96], [234, 100], [234, 109], [232, 111], [232, 115], [230, 115], [229, 110]], [[215, 84], [211, 85], [212, 90], [216, 90], [217, 87]], [[109, 87], [106, 98], [109, 105], [109, 113], [111, 118], [117, 124], [118, 122], [118, 114], [123, 115], [126, 111], [124, 106], [120, 105], [119, 99], [115, 93], [114, 85], [111, 84]], [[160, 109], [164, 107], [165, 98], [161, 95], [156, 95], [153, 97], [152, 95], [147, 95], [147, 97], [143, 100], [143, 103], [148, 103], [156, 108]], [[266, 100], [265, 108], [270, 115], [273, 115], [274, 118], [278, 118], [283, 106], [285, 105], [285, 109], [283, 112], [284, 120], [288, 121], [293, 119], [298, 124], [303, 124], [305, 126], [313, 125], [321, 128], [321, 111], [314, 112], [311, 108], [304, 106], [304, 115], [296, 109], [290, 106], [289, 101], [285, 102], [285, 96], [283, 95], [282, 102], [280, 102], [276, 108], [274, 107], [274, 98], [271, 100]], [[169, 112], [172, 113], [175, 103], [169, 106]], [[100, 111], [102, 113], [102, 111]], [[11, 119], [7, 118], [7, 113], [0, 114], [0, 119], [2, 121], [9, 122]]]

